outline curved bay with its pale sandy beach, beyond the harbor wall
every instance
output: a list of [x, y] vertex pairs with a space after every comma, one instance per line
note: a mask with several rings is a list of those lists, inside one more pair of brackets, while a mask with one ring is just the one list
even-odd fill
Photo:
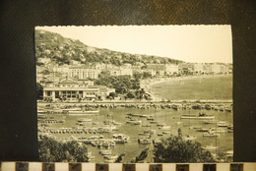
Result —
[[[231, 75], [159, 78], [144, 80], [141, 82], [141, 87], [151, 94], [153, 101], [170, 99], [232, 99], [231, 81]], [[197, 86], [198, 89], [195, 90], [193, 86]], [[226, 90], [226, 96], [221, 93], [223, 89]], [[202, 93], [205, 94], [201, 95]], [[174, 95], [169, 97], [167, 94]]]

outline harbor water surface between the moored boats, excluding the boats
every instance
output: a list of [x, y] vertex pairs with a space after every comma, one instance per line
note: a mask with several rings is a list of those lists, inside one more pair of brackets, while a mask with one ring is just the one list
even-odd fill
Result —
[[[207, 115], [214, 115], [215, 120], [225, 121], [228, 125], [232, 125], [232, 112], [220, 111], [220, 110], [206, 110], [206, 109], [181, 109], [173, 110], [169, 108], [154, 108], [150, 107], [148, 109], [138, 109], [138, 108], [99, 108], [98, 114], [89, 114], [89, 115], [68, 115], [68, 114], [43, 114], [43, 117], [54, 118], [56, 120], [64, 120], [64, 123], [51, 123], [47, 128], [77, 128], [76, 123], [79, 119], [92, 119], [92, 122], [85, 122], [83, 127], [93, 128], [93, 127], [102, 127], [104, 126], [105, 121], [115, 121], [120, 123], [117, 125], [117, 130], [103, 133], [103, 134], [50, 134], [56, 137], [58, 140], [64, 139], [78, 139], [78, 138], [90, 138], [94, 136], [103, 136], [104, 139], [111, 139], [113, 135], [123, 134], [129, 137], [127, 143], [116, 143], [114, 146], [109, 147], [111, 149], [111, 155], [120, 155], [124, 153], [122, 162], [130, 162], [140, 152], [146, 147], [153, 148], [153, 143], [151, 144], [140, 144], [138, 139], [142, 136], [138, 135], [144, 131], [152, 131], [154, 134], [151, 136], [151, 140], [159, 140], [164, 137], [169, 137], [170, 135], [178, 135], [178, 129], [181, 129], [183, 136], [190, 135], [196, 137], [197, 142], [201, 142], [202, 145], [213, 144], [217, 146], [217, 149], [212, 151], [213, 153], [219, 153], [225, 150], [233, 149], [233, 133], [228, 133], [226, 127], [224, 127], [224, 133], [220, 133], [219, 137], [203, 137], [204, 132], [198, 132], [193, 128], [217, 128], [217, 124], [205, 124], [204, 120], [199, 119], [180, 119], [181, 115], [198, 115], [199, 112], [206, 113]], [[135, 120], [141, 120], [140, 125], [132, 125], [126, 123], [128, 121], [127, 114], [140, 114], [140, 115], [152, 115], [151, 118], [154, 118], [155, 121], [158, 121], [160, 124], [165, 124], [170, 126], [169, 130], [166, 130], [165, 134], [162, 134], [163, 130], [157, 124], [151, 124], [146, 117], [134, 116], [132, 117]], [[148, 125], [148, 127], [143, 127]], [[155, 132], [155, 131], [156, 132]], [[92, 155], [95, 156], [95, 159], [91, 162], [104, 162], [105, 159], [98, 152], [101, 149], [106, 149], [105, 147], [98, 148], [91, 144], [87, 144], [89, 152], [92, 152]], [[148, 159], [149, 162], [154, 162], [153, 158]]]

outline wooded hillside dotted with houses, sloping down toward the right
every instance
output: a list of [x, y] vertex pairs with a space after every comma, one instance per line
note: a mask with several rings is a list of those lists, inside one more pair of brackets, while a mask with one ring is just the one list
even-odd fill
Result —
[[[179, 64], [183, 61], [166, 57], [129, 54], [108, 49], [88, 46], [79, 40], [63, 37], [58, 33], [45, 30], [35, 30], [35, 58], [50, 58], [56, 63], [69, 64], [71, 60], [81, 63], [104, 63], [121, 66], [124, 63], [171, 63]], [[37, 63], [39, 65], [39, 63]]]

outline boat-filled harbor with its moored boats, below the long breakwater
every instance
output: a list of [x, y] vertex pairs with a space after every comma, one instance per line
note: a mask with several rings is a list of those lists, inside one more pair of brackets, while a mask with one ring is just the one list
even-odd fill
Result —
[[[233, 146], [228, 102], [38, 103], [38, 110], [44, 111], [38, 112], [39, 135], [85, 143], [91, 162], [112, 162], [122, 153], [123, 162], [130, 162], [160, 139], [177, 136], [179, 129], [186, 141], [201, 142], [205, 148], [214, 145], [210, 151], [215, 155]], [[95, 112], [69, 113], [83, 110]]]

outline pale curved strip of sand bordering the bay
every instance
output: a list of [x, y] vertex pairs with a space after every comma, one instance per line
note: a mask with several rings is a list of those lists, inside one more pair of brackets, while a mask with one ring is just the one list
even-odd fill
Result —
[[144, 88], [146, 93], [149, 93], [151, 97], [153, 98], [153, 101], [161, 101], [164, 99], [163, 97], [160, 97], [159, 95], [154, 94], [151, 89], [153, 85], [159, 85], [161, 83], [170, 83], [170, 82], [180, 82], [180, 81], [186, 81], [186, 80], [196, 80], [196, 79], [206, 79], [206, 78], [218, 78], [218, 77], [227, 77], [232, 76], [230, 74], [228, 75], [204, 75], [204, 76], [187, 76], [187, 77], [174, 77], [174, 78], [158, 78], [158, 79], [150, 79], [150, 80], [144, 80], [141, 82], [141, 88]]

